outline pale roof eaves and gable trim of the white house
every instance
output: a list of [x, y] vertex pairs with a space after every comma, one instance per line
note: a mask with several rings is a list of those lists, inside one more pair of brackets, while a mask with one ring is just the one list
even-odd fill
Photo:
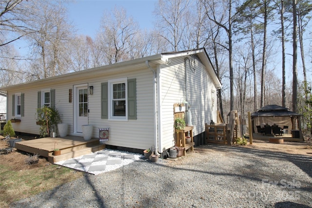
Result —
[[48, 77], [48, 78], [39, 79], [39, 80], [21, 83], [21, 84], [12, 85], [12, 86], [6, 86], [6, 87], [0, 88], [0, 90], [8, 91], [10, 89], [16, 89], [20, 87], [23, 87], [25, 89], [27, 87], [33, 86], [34, 84], [36, 84], [37, 87], [40, 87], [48, 83], [58, 84], [64, 81], [68, 81], [69, 79], [75, 79], [76, 81], [86, 80], [86, 78], [100, 76], [104, 71], [106, 74], [113, 74], [113, 73], [115, 74], [115, 73], [121, 73], [121, 72], [129, 71], [129, 70], [136, 70], [139, 68], [146, 68], [147, 62], [150, 67], [156, 68], [156, 66], [159, 64], [170, 64], [170, 58], [183, 57], [183, 56], [187, 57], [187, 56], [191, 56], [195, 54], [200, 58], [202, 63], [208, 69], [208, 73], [212, 77], [215, 83], [215, 86], [217, 88], [221, 88], [222, 87], [221, 82], [215, 73], [214, 67], [208, 57], [208, 54], [206, 50], [202, 48], [202, 49], [196, 49], [196, 50], [190, 50], [190, 51], [162, 53], [162, 54], [157, 54], [157, 55], [153, 55], [149, 57], [137, 58], [137, 59], [133, 59], [129, 61], [118, 62], [118, 63], [109, 64], [109, 65], [100, 66], [100, 67], [91, 68], [91, 69], [86, 69], [86, 70], [82, 70], [78, 72], [72, 72], [72, 73], [68, 73], [64, 75]]

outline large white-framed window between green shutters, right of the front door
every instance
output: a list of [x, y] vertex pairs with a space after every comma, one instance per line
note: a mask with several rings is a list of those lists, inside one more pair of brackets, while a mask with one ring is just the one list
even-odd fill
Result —
[[127, 120], [127, 78], [109, 81], [109, 117]]

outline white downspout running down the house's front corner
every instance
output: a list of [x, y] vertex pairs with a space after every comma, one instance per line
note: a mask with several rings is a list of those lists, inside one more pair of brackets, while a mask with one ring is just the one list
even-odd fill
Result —
[[155, 146], [155, 154], [159, 156], [158, 153], [158, 111], [157, 111], [157, 73], [156, 70], [154, 70], [150, 64], [149, 61], [145, 61], [145, 65], [153, 72], [154, 75], [154, 81], [153, 81], [153, 95], [154, 95], [154, 146]]

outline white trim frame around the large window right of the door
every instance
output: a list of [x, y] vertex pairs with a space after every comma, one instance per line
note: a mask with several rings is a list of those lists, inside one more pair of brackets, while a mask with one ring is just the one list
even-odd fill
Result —
[[[126, 84], [126, 116], [113, 116], [113, 84], [125, 83]], [[128, 121], [128, 82], [127, 77], [118, 78], [118, 79], [110, 79], [108, 80], [108, 120], [109, 121]]]

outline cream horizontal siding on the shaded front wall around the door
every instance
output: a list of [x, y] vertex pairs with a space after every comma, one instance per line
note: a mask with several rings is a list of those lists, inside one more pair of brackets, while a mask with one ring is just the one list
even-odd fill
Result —
[[[154, 145], [154, 98], [153, 98], [153, 73], [147, 69], [138, 69], [129, 73], [123, 73], [122, 77], [129, 79], [136, 78], [137, 89], [137, 119], [124, 121], [108, 121], [101, 119], [101, 83], [108, 82], [110, 79], [120, 78], [120, 74], [110, 74], [98, 76], [88, 79], [89, 85], [94, 86], [93, 95], [88, 95], [89, 121], [93, 125], [93, 137], [98, 138], [98, 129], [109, 127], [108, 145], [147, 149]], [[73, 93], [72, 102], [69, 102], [69, 89], [73, 89], [74, 85], [83, 84], [84, 81], [64, 80], [63, 83], [51, 86], [31, 86], [27, 90], [23, 90], [25, 94], [25, 116], [21, 118], [21, 122], [13, 124], [14, 130], [17, 132], [27, 132], [39, 134], [39, 125], [36, 125], [36, 110], [38, 91], [40, 88], [53, 88], [55, 90], [55, 107], [58, 109], [63, 123], [69, 124], [69, 134], [73, 133]], [[12, 103], [12, 94], [18, 92], [10, 92], [9, 103]], [[9, 105], [8, 112], [12, 112], [12, 105]], [[11, 118], [9, 118], [11, 119]], [[79, 135], [82, 136], [82, 135]]]

